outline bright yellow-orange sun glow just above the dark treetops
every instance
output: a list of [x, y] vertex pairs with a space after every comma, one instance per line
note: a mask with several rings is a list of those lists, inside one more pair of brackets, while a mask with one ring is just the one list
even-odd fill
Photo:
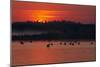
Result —
[[53, 13], [52, 11], [47, 11], [47, 10], [35, 10], [33, 11], [32, 18], [33, 20], [36, 20], [39, 22], [45, 22], [54, 18], [54, 16], [50, 15], [52, 13]]

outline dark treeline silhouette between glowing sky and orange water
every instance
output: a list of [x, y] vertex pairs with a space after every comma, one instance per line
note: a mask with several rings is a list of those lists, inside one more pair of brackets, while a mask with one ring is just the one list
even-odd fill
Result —
[[45, 31], [41, 34], [13, 35], [12, 40], [95, 40], [95, 24], [81, 24], [73, 21], [27, 21], [13, 22], [12, 33]]

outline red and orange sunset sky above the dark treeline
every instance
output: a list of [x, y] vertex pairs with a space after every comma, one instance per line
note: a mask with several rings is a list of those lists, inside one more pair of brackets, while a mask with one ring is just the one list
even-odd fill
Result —
[[12, 21], [70, 20], [81, 23], [96, 22], [96, 6], [13, 2]]

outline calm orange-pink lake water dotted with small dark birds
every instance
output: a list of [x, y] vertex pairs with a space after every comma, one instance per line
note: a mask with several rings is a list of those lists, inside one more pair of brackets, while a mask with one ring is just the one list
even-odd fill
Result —
[[[48, 44], [52, 44], [47, 46]], [[65, 43], [65, 44], [64, 44]], [[51, 64], [96, 60], [95, 41], [13, 41], [12, 65]]]

